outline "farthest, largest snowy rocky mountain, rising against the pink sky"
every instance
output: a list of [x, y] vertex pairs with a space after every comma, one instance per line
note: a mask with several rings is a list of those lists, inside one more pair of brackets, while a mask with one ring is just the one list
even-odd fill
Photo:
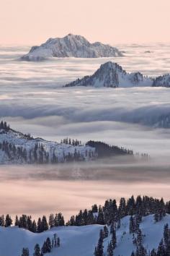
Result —
[[122, 56], [117, 48], [102, 43], [89, 43], [81, 35], [68, 34], [64, 38], [50, 38], [41, 46], [33, 46], [22, 56], [25, 61], [41, 61], [50, 57], [99, 58]]

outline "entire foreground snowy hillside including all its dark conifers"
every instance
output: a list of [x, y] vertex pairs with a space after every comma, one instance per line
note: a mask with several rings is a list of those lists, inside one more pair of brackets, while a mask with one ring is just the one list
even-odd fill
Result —
[[122, 197], [120, 205], [107, 200], [81, 210], [66, 225], [58, 222], [61, 213], [51, 214], [49, 224], [43, 216], [37, 231], [29, 230], [36, 226], [30, 216], [16, 217], [14, 226], [9, 215], [0, 216], [0, 256], [169, 256], [169, 211], [163, 199]]

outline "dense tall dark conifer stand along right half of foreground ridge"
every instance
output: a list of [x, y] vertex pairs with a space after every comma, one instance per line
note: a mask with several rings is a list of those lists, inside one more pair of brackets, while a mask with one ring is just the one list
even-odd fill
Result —
[[70, 226], [84, 226], [89, 224], [101, 224], [110, 225], [112, 223], [119, 223], [120, 219], [125, 216], [135, 216], [134, 223], [130, 229], [138, 230], [139, 223], [142, 216], [148, 216], [149, 214], [155, 214], [155, 219], [161, 221], [161, 218], [166, 213], [170, 213], [170, 202], [164, 203], [164, 200], [154, 199], [153, 197], [143, 196], [136, 197], [132, 196], [127, 201], [124, 197], [120, 199], [119, 205], [116, 200], [106, 200], [104, 206], [93, 205], [91, 210], [80, 210], [76, 216], [71, 216], [71, 219], [66, 223]]

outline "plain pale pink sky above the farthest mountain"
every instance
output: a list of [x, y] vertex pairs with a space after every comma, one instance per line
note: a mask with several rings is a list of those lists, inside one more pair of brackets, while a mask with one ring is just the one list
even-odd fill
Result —
[[68, 33], [91, 42], [169, 42], [169, 0], [0, 0], [0, 44]]

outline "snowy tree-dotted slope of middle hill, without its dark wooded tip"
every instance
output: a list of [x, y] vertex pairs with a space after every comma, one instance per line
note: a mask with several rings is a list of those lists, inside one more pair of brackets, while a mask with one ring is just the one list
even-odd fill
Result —
[[0, 129], [0, 164], [56, 163], [73, 159], [88, 161], [95, 157], [94, 151], [95, 148], [87, 145], [52, 142], [23, 135], [13, 129]]

